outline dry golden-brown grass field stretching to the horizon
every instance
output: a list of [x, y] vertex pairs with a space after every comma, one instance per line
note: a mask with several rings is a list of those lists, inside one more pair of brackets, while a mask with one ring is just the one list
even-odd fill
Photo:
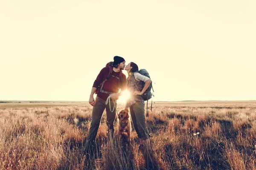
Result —
[[108, 140], [105, 113], [96, 157], [87, 159], [87, 103], [0, 104], [0, 169], [256, 169], [256, 101], [155, 102], [152, 111], [146, 122], [154, 166], [148, 167], [134, 130], [131, 150]]

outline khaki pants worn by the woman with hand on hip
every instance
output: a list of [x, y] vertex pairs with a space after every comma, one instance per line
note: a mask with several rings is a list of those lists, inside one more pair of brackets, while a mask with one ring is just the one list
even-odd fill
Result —
[[145, 120], [145, 104], [142, 102], [136, 102], [130, 106], [131, 119], [134, 125], [134, 129], [140, 139], [148, 139], [150, 134], [146, 126]]

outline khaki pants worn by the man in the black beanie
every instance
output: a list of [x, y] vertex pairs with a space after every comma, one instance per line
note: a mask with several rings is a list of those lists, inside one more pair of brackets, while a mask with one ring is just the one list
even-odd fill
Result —
[[[113, 103], [113, 100], [111, 99], [111, 110], [113, 110], [113, 106], [114, 106], [114, 103]], [[99, 97], [96, 97], [95, 105], [93, 106], [91, 126], [87, 136], [87, 141], [86, 141], [87, 144], [94, 144], [98, 130], [99, 130], [102, 114], [105, 109], [107, 113], [108, 134], [111, 133], [111, 135], [113, 136], [114, 121], [116, 119], [116, 108], [114, 109], [113, 112], [111, 112], [109, 108], [109, 103], [106, 105], [105, 100]]]

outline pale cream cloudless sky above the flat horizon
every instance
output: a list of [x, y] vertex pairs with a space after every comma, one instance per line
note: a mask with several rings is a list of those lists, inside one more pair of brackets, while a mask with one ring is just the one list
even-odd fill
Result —
[[0, 0], [0, 100], [88, 101], [115, 55], [148, 70], [153, 101], [256, 100], [255, 9], [255, 0]]

